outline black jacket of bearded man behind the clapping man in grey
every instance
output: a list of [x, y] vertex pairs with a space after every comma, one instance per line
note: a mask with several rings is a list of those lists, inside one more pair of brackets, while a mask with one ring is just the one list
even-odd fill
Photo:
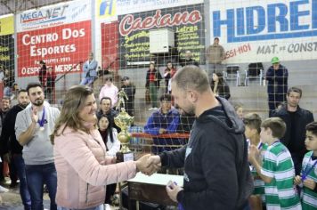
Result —
[[12, 154], [22, 154], [23, 147], [20, 146], [20, 143], [15, 137], [14, 125], [18, 113], [23, 109], [24, 108], [19, 104], [15, 105], [4, 117], [4, 125], [0, 137], [0, 148], [1, 154], [3, 155], [9, 151], [11, 151]]

